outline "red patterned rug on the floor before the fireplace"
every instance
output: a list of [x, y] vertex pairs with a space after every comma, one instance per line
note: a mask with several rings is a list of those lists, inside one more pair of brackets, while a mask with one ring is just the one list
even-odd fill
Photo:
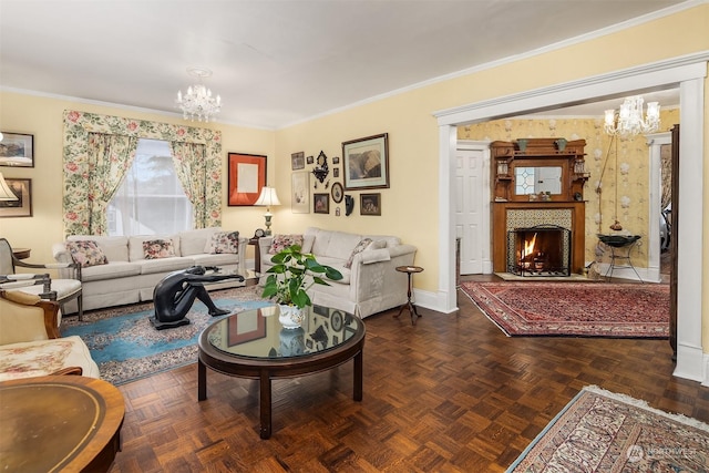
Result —
[[507, 336], [669, 337], [669, 286], [610, 282], [462, 282]]

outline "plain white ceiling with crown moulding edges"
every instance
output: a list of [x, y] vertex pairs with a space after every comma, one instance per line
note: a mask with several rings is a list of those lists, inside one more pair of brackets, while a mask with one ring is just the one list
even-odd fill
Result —
[[0, 0], [0, 88], [178, 113], [203, 66], [217, 121], [279, 128], [696, 1]]

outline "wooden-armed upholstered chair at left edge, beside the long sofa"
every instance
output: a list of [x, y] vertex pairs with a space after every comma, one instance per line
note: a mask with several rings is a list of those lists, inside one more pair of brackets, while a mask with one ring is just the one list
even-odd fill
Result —
[[[16, 267], [38, 269], [71, 268], [74, 278], [52, 279], [49, 273], [16, 273]], [[75, 263], [51, 263], [37, 265], [23, 263], [12, 254], [10, 243], [0, 238], [0, 289], [18, 290], [40, 296], [42, 299], [56, 300], [60, 307], [64, 302], [76, 299], [79, 320], [83, 317], [81, 267]], [[62, 310], [63, 313], [63, 310]]]

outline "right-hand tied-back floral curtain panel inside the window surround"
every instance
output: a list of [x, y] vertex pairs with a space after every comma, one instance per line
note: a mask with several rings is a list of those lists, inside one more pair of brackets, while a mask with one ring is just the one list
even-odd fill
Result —
[[217, 208], [219, 206], [218, 202], [207, 205], [205, 187], [207, 166], [204, 145], [173, 142], [169, 144], [169, 150], [173, 155], [177, 178], [192, 203], [195, 228], [203, 228], [201, 225], [206, 220], [207, 208], [214, 207], [214, 204], [216, 204]]

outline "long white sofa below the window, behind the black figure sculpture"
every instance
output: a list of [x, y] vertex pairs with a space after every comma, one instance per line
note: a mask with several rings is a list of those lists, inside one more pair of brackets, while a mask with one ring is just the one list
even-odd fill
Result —
[[[153, 290], [167, 274], [191, 266], [217, 266], [224, 273], [239, 274], [246, 270], [246, 246], [248, 238], [238, 238], [238, 253], [207, 253], [208, 243], [219, 227], [182, 232], [176, 235], [142, 235], [132, 237], [107, 237], [73, 235], [66, 241], [95, 241], [107, 263], [80, 268], [82, 281], [83, 310], [121, 306], [153, 300]], [[143, 243], [147, 240], [171, 240], [175, 256], [145, 259]], [[66, 241], [52, 246], [54, 259], [71, 263]], [[60, 269], [60, 277], [73, 277], [70, 270]], [[205, 285], [209, 290], [243, 285], [237, 279]], [[76, 305], [69, 302], [66, 313], [76, 311]]]

